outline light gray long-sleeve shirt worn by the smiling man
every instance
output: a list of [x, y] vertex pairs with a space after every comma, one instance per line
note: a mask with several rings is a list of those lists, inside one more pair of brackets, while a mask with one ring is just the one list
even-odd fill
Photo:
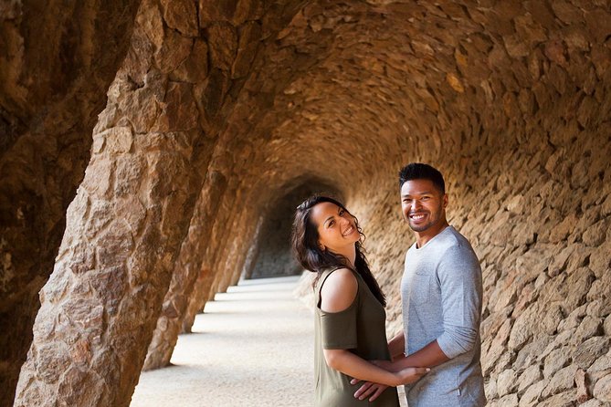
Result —
[[409, 407], [483, 406], [479, 363], [481, 268], [469, 241], [452, 226], [406, 253], [401, 281], [406, 354], [437, 340], [450, 358], [406, 385]]

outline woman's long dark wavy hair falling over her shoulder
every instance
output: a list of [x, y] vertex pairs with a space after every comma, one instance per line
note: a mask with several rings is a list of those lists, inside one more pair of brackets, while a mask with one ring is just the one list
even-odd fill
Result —
[[359, 226], [359, 222], [353, 214], [354, 224], [356, 229], [361, 235], [361, 239], [355, 243], [356, 245], [356, 259], [354, 260], [354, 267], [350, 266], [348, 259], [342, 255], [332, 253], [330, 250], [321, 250], [318, 239], [318, 229], [316, 224], [311, 221], [311, 209], [318, 203], [335, 203], [337, 206], [342, 208], [348, 214], [348, 211], [342, 203], [336, 201], [333, 198], [322, 195], [313, 195], [301, 203], [295, 211], [295, 218], [293, 220], [292, 233], [290, 235], [290, 245], [292, 246], [293, 253], [300, 262], [303, 268], [316, 273], [318, 276], [314, 280], [316, 285], [318, 278], [321, 277], [321, 273], [324, 270], [333, 268], [350, 268], [361, 277], [367, 287], [371, 290], [374, 296], [380, 301], [383, 306], [386, 306], [386, 298], [382, 289], [377, 284], [374, 275], [369, 269], [367, 258], [364, 256], [363, 240], [365, 235]]

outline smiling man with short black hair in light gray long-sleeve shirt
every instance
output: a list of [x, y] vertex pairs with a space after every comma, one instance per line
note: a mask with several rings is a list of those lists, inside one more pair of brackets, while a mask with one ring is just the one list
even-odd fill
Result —
[[[388, 342], [388, 370], [432, 368], [406, 385], [409, 407], [483, 406], [479, 363], [481, 268], [469, 241], [448, 224], [443, 176], [413, 162], [399, 172], [401, 209], [416, 235], [401, 281], [404, 331]], [[354, 397], [374, 399], [384, 387], [365, 383]]]

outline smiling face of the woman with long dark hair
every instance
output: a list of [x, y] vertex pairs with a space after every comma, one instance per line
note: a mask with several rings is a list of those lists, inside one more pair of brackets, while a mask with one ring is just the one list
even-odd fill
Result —
[[353, 215], [335, 203], [316, 204], [311, 211], [311, 220], [318, 230], [322, 250], [342, 253], [343, 248], [354, 245], [361, 238]]

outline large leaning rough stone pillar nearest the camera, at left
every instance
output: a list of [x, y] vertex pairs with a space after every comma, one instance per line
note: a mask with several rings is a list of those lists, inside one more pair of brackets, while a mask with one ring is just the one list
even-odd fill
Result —
[[16, 407], [129, 405], [193, 214], [208, 144], [194, 84], [172, 78], [197, 40], [145, 3], [40, 293]]

